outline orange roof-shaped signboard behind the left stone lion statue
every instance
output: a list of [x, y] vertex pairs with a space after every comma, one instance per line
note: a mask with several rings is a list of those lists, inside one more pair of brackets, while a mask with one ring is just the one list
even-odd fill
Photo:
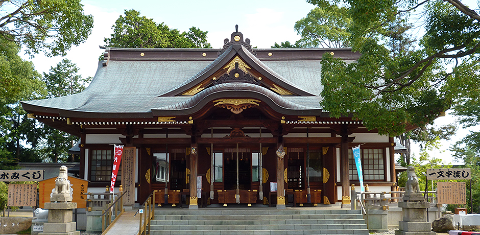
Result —
[[[52, 194], [52, 190], [55, 189], [55, 179], [57, 179], [57, 177], [45, 179], [39, 182], [40, 208], [44, 208], [45, 202], [50, 202], [50, 194]], [[77, 208], [85, 208], [87, 206], [87, 201], [85, 200], [87, 197], [83, 194], [87, 193], [88, 191], [88, 181], [73, 176], [68, 176], [68, 180], [70, 180], [70, 186], [74, 190], [74, 194], [72, 195], [73, 199], [71, 202], [77, 202]]]

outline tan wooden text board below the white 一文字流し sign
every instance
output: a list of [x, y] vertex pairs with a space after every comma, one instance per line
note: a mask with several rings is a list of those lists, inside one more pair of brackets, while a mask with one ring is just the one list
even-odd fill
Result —
[[466, 204], [465, 182], [437, 182], [438, 204]]

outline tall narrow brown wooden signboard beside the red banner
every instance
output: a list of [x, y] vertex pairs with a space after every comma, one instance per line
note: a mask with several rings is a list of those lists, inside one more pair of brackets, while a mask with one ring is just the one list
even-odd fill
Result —
[[122, 155], [122, 185], [124, 188], [124, 205], [135, 203], [135, 147], [124, 147]]

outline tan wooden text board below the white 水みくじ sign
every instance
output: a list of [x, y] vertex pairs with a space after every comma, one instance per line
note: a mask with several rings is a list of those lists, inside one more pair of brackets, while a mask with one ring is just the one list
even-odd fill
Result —
[[36, 206], [37, 184], [9, 184], [8, 206]]

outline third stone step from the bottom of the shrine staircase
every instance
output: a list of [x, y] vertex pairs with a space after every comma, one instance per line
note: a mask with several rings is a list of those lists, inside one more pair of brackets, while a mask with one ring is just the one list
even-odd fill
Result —
[[152, 220], [152, 225], [281, 225], [281, 224], [365, 224], [364, 219], [340, 220]]

